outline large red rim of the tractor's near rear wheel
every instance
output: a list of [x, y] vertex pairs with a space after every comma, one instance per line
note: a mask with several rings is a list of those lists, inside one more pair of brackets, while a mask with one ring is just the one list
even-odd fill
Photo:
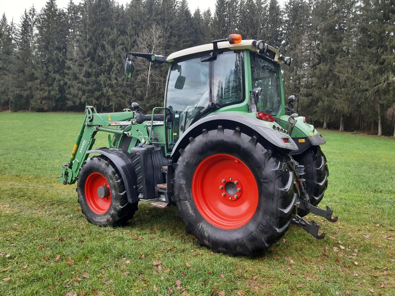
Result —
[[213, 154], [197, 166], [192, 196], [203, 218], [223, 229], [236, 229], [254, 216], [258, 186], [249, 167], [229, 154]]

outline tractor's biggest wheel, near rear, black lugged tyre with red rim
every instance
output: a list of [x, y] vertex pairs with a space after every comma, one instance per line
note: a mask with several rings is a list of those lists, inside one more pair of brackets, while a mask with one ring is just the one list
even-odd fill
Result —
[[174, 200], [199, 244], [254, 255], [288, 229], [294, 177], [284, 158], [239, 128], [190, 138], [175, 170]]

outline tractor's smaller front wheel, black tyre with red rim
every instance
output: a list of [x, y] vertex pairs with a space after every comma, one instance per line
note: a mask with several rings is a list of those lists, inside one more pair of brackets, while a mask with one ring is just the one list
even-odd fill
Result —
[[85, 161], [79, 172], [77, 192], [82, 213], [96, 225], [123, 225], [137, 210], [137, 203], [127, 200], [125, 185], [115, 165], [103, 156]]

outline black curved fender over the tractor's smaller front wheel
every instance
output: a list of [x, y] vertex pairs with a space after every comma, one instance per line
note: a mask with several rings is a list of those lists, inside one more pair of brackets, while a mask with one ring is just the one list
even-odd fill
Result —
[[108, 157], [118, 169], [126, 188], [128, 201], [130, 203], [138, 202], [137, 175], [130, 153], [119, 148], [98, 148], [86, 151], [86, 153], [100, 153]]

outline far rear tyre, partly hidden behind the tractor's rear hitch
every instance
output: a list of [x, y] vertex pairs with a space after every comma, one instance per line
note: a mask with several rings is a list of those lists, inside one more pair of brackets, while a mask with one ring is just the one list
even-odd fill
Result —
[[[313, 206], [319, 204], [324, 197], [328, 187], [329, 170], [326, 164], [326, 157], [319, 146], [312, 146], [301, 155], [295, 155], [293, 158], [305, 166], [303, 178], [306, 180], [306, 191], [310, 197], [310, 203]], [[306, 211], [298, 210], [298, 215], [304, 217], [309, 214]]]

